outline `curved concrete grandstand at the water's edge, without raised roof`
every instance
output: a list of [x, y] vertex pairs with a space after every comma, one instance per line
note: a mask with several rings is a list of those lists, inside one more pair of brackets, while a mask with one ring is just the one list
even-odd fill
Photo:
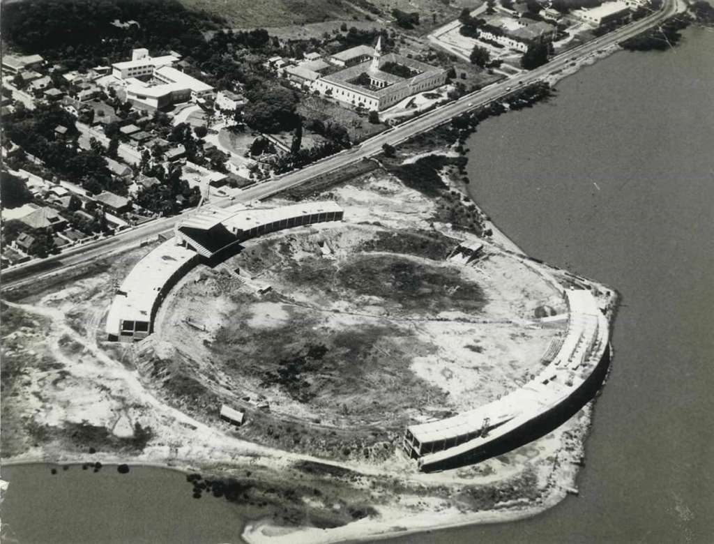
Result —
[[565, 291], [570, 319], [543, 369], [520, 388], [452, 418], [411, 425], [403, 448], [421, 470], [445, 470], [501, 455], [549, 432], [597, 391], [608, 365], [608, 320], [590, 291]]

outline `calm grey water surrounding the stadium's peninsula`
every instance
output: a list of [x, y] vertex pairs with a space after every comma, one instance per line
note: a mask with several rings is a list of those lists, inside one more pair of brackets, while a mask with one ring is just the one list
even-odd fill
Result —
[[[483, 123], [473, 197], [527, 253], [617, 288], [615, 358], [579, 498], [396, 543], [710, 542], [714, 535], [714, 32], [618, 53]], [[236, 542], [240, 514], [161, 469], [11, 467], [22, 543]], [[124, 535], [122, 538], [121, 535]]]

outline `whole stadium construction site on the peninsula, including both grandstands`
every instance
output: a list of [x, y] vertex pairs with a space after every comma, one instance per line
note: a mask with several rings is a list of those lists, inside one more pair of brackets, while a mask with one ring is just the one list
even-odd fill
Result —
[[[328, 542], [364, 516], [387, 534], [555, 504], [614, 293], [453, 228], [438, 202], [376, 171], [300, 203], [208, 203], [6, 297], [4, 455], [249, 468], [278, 490], [253, 542], [273, 523]], [[297, 482], [323, 499], [297, 508]]]

